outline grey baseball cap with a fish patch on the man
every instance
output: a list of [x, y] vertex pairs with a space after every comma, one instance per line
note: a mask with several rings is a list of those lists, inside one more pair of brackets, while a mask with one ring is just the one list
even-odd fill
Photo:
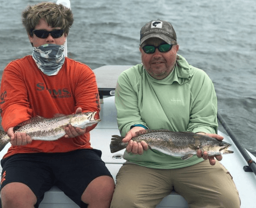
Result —
[[168, 44], [177, 41], [173, 26], [169, 22], [160, 19], [150, 21], [141, 28], [140, 45], [148, 38], [160, 38]]

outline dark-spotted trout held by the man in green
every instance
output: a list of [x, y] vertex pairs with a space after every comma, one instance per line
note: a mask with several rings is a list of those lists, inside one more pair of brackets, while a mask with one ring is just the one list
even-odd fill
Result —
[[[170, 156], [182, 157], [182, 160], [191, 158], [197, 150], [207, 151], [209, 156], [233, 153], [228, 150], [231, 144], [193, 132], [145, 129], [136, 134], [132, 140], [145, 141], [152, 151], [157, 150]], [[123, 143], [123, 138], [118, 135], [112, 136], [110, 143], [112, 153], [126, 148], [128, 143]]]

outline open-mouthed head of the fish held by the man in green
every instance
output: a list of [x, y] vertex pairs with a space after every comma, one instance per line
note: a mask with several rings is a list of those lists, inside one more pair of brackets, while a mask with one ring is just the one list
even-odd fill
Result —
[[212, 155], [220, 155], [220, 154], [230, 154], [234, 151], [228, 150], [228, 148], [231, 146], [231, 144], [215, 139], [212, 141], [209, 141], [205, 144], [201, 144], [200, 149], [203, 151], [207, 151], [209, 156]]

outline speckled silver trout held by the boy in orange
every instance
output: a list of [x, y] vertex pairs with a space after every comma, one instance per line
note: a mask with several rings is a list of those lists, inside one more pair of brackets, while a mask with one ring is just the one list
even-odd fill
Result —
[[[51, 119], [34, 117], [15, 126], [13, 132], [26, 132], [34, 140], [54, 141], [66, 134], [64, 127], [67, 127], [69, 124], [85, 129], [98, 123], [100, 119], [94, 119], [96, 113], [87, 112], [61, 115]], [[0, 151], [9, 141], [10, 138], [7, 133], [0, 130]]]

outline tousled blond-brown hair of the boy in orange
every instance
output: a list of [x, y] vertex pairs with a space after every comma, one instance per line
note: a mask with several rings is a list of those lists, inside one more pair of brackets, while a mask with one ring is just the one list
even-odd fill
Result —
[[33, 30], [44, 19], [51, 27], [60, 27], [68, 34], [69, 28], [74, 22], [71, 9], [52, 2], [41, 2], [34, 6], [28, 6], [22, 12], [22, 25], [26, 28], [27, 34], [33, 36]]

